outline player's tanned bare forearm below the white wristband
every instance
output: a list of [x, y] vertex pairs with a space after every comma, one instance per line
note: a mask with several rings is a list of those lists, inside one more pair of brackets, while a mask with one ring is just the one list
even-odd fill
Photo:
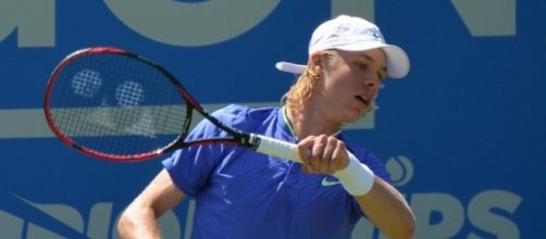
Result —
[[372, 189], [356, 197], [368, 218], [388, 238], [411, 238], [415, 221], [404, 197], [390, 185], [375, 177]]

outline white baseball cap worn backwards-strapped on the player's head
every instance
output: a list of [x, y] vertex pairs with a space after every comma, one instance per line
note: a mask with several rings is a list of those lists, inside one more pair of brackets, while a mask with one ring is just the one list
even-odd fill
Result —
[[[388, 77], [402, 78], [408, 74], [410, 63], [406, 52], [397, 46], [387, 45], [375, 24], [356, 16], [339, 15], [317, 27], [309, 42], [309, 55], [328, 49], [365, 51], [376, 48], [385, 51]], [[298, 75], [307, 67], [289, 62], [278, 62], [275, 66], [280, 71]]]

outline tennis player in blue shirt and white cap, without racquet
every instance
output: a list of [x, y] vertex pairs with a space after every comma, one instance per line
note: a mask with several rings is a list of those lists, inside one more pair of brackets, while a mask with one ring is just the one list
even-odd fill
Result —
[[[376, 25], [340, 15], [314, 30], [307, 65], [277, 67], [300, 75], [281, 108], [213, 114], [297, 143], [303, 164], [223, 144], [178, 150], [122, 214], [123, 238], [160, 238], [158, 218], [187, 197], [196, 200], [193, 238], [350, 238], [362, 218], [389, 238], [411, 238], [413, 214], [384, 165], [342, 131], [373, 108], [385, 77], [407, 75], [405, 51]], [[222, 135], [201, 122], [188, 137]]]

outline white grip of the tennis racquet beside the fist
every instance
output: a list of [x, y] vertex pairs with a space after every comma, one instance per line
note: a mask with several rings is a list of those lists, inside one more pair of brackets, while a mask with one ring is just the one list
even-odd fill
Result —
[[278, 156], [297, 163], [303, 163], [299, 158], [298, 147], [291, 142], [282, 141], [268, 136], [250, 134], [251, 139], [258, 139], [257, 152]]

